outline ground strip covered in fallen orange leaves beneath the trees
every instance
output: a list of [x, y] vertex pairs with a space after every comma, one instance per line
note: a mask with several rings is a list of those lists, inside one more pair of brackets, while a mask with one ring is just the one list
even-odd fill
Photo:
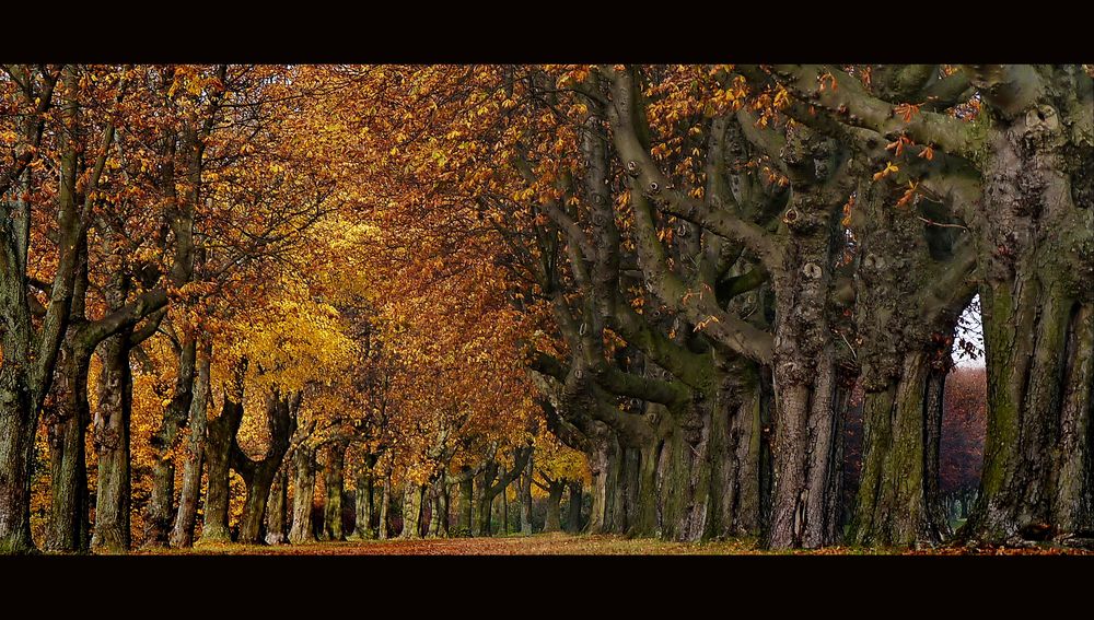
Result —
[[[350, 540], [310, 545], [244, 546], [220, 545], [195, 549], [144, 551], [155, 554], [240, 555], [745, 555], [769, 554], [754, 540], [671, 542], [621, 536], [496, 536], [492, 538], [446, 538], [426, 540]], [[888, 554], [1094, 554], [1094, 551], [1044, 547], [1032, 549], [967, 549], [944, 547], [932, 550], [833, 547], [822, 550], [783, 551], [805, 555]]]

